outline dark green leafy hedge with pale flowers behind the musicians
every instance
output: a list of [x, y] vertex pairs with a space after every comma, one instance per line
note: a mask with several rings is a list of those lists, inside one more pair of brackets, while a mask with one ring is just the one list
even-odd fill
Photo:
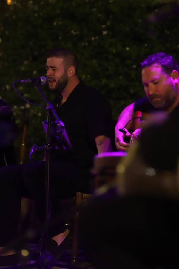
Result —
[[[160, 1], [161, 2], [161, 1]], [[165, 1], [166, 2], [166, 1]], [[70, 48], [79, 59], [79, 75], [100, 90], [112, 105], [117, 119], [122, 109], [144, 96], [140, 62], [149, 54], [164, 51], [179, 61], [178, 14], [151, 22], [170, 10], [170, 4], [151, 0], [12, 0], [0, 3], [0, 96], [13, 108], [16, 123], [23, 126], [28, 111], [27, 153], [45, 142], [41, 122], [44, 108], [28, 105], [13, 88], [18, 79], [45, 75], [45, 52]], [[163, 10], [164, 9], [164, 10]], [[34, 103], [45, 105], [33, 85], [18, 90]], [[54, 96], [43, 86], [51, 101]], [[18, 147], [20, 138], [16, 141]]]

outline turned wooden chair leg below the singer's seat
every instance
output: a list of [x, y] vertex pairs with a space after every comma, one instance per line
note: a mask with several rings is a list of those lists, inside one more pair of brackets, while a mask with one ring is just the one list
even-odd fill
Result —
[[74, 217], [73, 233], [72, 233], [72, 256], [71, 256], [71, 265], [76, 265], [78, 257], [78, 215], [79, 215], [79, 205], [83, 199], [82, 192], [76, 192], [75, 203], [76, 211]]

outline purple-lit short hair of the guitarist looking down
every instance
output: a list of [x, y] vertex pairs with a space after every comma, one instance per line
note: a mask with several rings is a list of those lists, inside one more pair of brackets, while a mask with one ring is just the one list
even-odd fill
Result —
[[158, 63], [162, 66], [163, 71], [167, 74], [171, 74], [173, 70], [178, 71], [179, 67], [173, 56], [166, 54], [164, 52], [158, 52], [152, 55], [149, 55], [143, 62], [141, 62], [142, 69], [149, 67], [155, 63]]

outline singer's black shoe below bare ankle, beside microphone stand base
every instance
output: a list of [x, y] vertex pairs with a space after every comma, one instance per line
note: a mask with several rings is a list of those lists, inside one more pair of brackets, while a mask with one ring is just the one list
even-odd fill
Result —
[[53, 239], [48, 240], [47, 249], [53, 256], [54, 261], [58, 260], [64, 252], [70, 247], [70, 233], [65, 237], [64, 241], [58, 246], [57, 242]]

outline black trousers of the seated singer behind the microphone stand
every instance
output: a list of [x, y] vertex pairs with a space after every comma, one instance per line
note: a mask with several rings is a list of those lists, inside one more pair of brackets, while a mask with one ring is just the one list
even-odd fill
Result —
[[[45, 220], [45, 164], [32, 162], [0, 169], [0, 246], [17, 236], [21, 197], [32, 198], [41, 223]], [[90, 173], [73, 163], [50, 163], [51, 219], [60, 214], [58, 199], [72, 198], [76, 191], [87, 192]], [[49, 236], [64, 232], [63, 221], [54, 223]]]

